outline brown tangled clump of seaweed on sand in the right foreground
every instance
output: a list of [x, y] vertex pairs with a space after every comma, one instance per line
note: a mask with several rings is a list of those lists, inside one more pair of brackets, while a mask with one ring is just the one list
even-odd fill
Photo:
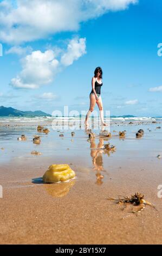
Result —
[[118, 198], [118, 199], [108, 197], [107, 199], [113, 200], [116, 204], [123, 203], [123, 204], [133, 204], [135, 206], [141, 206], [140, 209], [137, 211], [132, 210], [132, 213], [138, 213], [138, 212], [142, 211], [145, 208], [145, 205], [150, 205], [155, 209], [155, 206], [152, 203], [150, 203], [144, 199], [144, 194], [141, 194], [139, 192], [132, 194], [130, 197], [126, 196], [126, 197], [122, 197], [122, 198]]

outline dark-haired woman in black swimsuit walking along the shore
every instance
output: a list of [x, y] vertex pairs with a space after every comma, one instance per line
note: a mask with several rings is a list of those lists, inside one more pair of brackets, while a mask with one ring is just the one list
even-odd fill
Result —
[[102, 69], [98, 66], [94, 71], [94, 77], [92, 77], [92, 91], [90, 97], [90, 107], [86, 115], [86, 126], [88, 126], [88, 118], [94, 110], [95, 103], [97, 103], [100, 110], [101, 125], [106, 125], [103, 120], [103, 106], [101, 99], [101, 86], [102, 86]]

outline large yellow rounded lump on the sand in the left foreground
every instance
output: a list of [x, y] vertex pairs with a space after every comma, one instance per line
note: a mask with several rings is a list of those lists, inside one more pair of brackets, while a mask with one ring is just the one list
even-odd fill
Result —
[[63, 182], [75, 177], [75, 172], [68, 164], [51, 164], [43, 175], [44, 183]]

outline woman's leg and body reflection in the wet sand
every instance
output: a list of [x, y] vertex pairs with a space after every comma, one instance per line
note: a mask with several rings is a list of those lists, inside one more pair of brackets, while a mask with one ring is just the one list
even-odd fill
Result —
[[89, 139], [90, 142], [90, 156], [92, 157], [93, 162], [93, 169], [96, 170], [96, 182], [95, 184], [101, 185], [103, 183], [102, 179], [104, 176], [101, 174], [101, 171], [104, 170], [103, 168], [103, 160], [102, 154], [104, 152], [103, 147], [103, 139], [99, 139], [98, 145], [95, 143], [95, 138]]

